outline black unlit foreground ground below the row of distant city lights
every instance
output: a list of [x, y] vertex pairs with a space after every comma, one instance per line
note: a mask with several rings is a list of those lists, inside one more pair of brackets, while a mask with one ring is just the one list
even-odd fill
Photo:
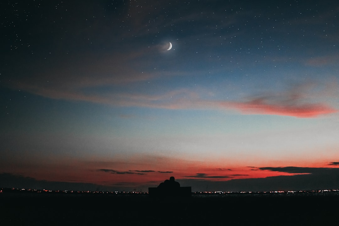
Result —
[[0, 225], [339, 225], [339, 196], [0, 194]]

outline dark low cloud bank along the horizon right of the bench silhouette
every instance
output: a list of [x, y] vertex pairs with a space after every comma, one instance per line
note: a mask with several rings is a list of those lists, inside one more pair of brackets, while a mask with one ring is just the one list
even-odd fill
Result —
[[[227, 181], [178, 179], [181, 186], [192, 186], [192, 191], [291, 191], [337, 189], [339, 168], [261, 167], [259, 170], [290, 172], [289, 176], [231, 179]], [[296, 174], [297, 173], [297, 174]], [[298, 174], [302, 173], [302, 174]], [[203, 176], [203, 175], [202, 175]]]

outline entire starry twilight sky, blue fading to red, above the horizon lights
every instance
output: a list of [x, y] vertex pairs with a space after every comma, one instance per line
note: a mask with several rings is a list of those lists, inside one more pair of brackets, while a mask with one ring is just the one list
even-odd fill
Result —
[[0, 187], [339, 187], [337, 1], [1, 1], [0, 18]]

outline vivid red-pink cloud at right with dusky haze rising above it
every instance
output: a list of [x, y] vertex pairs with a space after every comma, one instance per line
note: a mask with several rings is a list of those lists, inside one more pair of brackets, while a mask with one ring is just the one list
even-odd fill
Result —
[[292, 84], [286, 91], [264, 92], [258, 96], [249, 96], [246, 101], [221, 102], [225, 108], [233, 108], [243, 114], [262, 114], [313, 118], [338, 112], [324, 99], [336, 96], [338, 83], [319, 84], [307, 81]]

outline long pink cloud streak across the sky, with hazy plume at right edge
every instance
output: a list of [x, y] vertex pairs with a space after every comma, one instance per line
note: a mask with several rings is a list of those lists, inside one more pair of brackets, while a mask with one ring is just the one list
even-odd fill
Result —
[[[282, 93], [266, 93], [247, 100], [224, 101], [210, 99], [206, 90], [177, 89], [160, 94], [144, 93], [98, 93], [85, 94], [82, 89], [72, 89], [68, 86], [44, 87], [37, 84], [20, 83], [19, 89], [53, 99], [68, 99], [88, 101], [115, 106], [137, 106], [164, 109], [226, 109], [237, 110], [242, 114], [279, 115], [298, 118], [314, 118], [321, 115], [338, 112], [337, 109], [320, 100], [334, 96], [334, 87], [325, 86], [321, 93], [314, 92], [316, 84], [306, 83], [296, 85], [291, 90]], [[326, 92], [332, 90], [330, 94]], [[202, 99], [201, 95], [206, 99]], [[319, 100], [319, 101], [315, 101]]]

